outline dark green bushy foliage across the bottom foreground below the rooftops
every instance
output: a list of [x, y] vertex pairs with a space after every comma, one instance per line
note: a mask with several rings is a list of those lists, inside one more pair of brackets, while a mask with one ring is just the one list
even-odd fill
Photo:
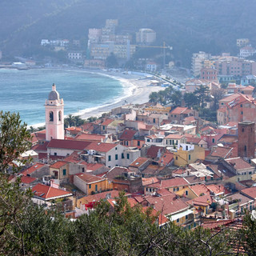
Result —
[[[30, 194], [18, 193], [17, 184], [6, 178], [0, 188], [0, 255], [239, 255], [232, 245], [241, 234], [228, 229], [211, 233], [202, 227], [183, 230], [172, 222], [160, 228], [152, 209], [131, 208], [123, 194], [114, 210], [102, 201], [89, 215], [71, 222], [33, 205]], [[245, 232], [244, 238], [247, 228]]]

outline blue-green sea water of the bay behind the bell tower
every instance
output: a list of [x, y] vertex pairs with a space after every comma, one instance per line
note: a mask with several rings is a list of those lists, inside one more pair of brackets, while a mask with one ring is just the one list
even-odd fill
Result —
[[65, 114], [113, 103], [123, 93], [120, 81], [100, 74], [0, 69], [0, 110], [19, 112], [28, 125], [45, 122], [44, 104], [53, 83], [64, 100]]

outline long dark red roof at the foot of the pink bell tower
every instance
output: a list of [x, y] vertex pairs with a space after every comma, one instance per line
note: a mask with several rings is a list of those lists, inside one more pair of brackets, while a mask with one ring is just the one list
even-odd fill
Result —
[[90, 142], [82, 142], [75, 140], [65, 140], [65, 139], [51, 139], [48, 144], [48, 148], [55, 149], [67, 149], [67, 150], [84, 150]]

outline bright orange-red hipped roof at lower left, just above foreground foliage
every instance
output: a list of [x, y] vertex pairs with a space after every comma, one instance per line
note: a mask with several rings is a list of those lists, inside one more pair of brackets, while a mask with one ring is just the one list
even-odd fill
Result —
[[32, 188], [32, 192], [34, 193], [35, 197], [42, 198], [44, 200], [50, 200], [54, 198], [66, 198], [68, 196], [71, 196], [72, 193], [65, 191], [65, 190], [59, 190], [52, 186], [46, 186], [42, 184], [37, 184]]

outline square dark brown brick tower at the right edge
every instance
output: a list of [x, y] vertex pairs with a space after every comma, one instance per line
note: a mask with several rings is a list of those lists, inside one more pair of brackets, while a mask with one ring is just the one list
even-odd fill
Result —
[[254, 122], [238, 123], [238, 156], [254, 158], [255, 124]]

